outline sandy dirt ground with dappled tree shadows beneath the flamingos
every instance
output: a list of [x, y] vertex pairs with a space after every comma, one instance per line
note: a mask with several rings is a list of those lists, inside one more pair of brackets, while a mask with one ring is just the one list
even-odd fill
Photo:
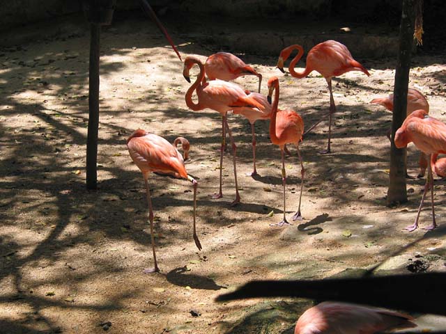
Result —
[[[444, 182], [436, 177], [440, 228], [433, 232], [403, 231], [415, 219], [425, 179], [408, 180], [407, 203], [385, 206], [385, 133], [392, 116], [369, 102], [392, 91], [393, 58], [355, 57], [371, 76], [348, 72], [334, 79], [332, 153], [318, 153], [327, 141], [323, 122], [300, 144], [304, 220], [279, 228], [270, 226], [282, 218], [282, 178], [269, 122], [255, 125], [260, 176], [253, 178], [245, 176], [252, 171], [249, 123], [229, 116], [241, 202], [230, 205], [235, 191], [229, 150], [224, 198], [211, 199], [218, 190], [220, 115], [187, 109], [183, 64], [149, 28], [134, 22], [102, 33], [98, 191], [86, 191], [84, 184], [89, 34], [0, 50], [1, 333], [292, 333], [310, 301], [214, 299], [248, 280], [325, 278], [367, 268], [413, 241], [393, 257], [401, 263], [387, 269], [406, 270], [401, 266], [418, 256], [427, 263], [420, 271], [445, 271]], [[196, 54], [204, 61], [218, 51], [184, 35], [176, 39], [183, 57]], [[266, 78], [263, 93], [266, 80], [279, 77], [279, 108], [300, 113], [306, 127], [328, 111], [328, 88], [317, 73], [298, 80], [275, 68], [277, 56], [240, 56]], [[432, 116], [446, 121], [445, 70], [444, 56], [417, 55], [410, 86], [426, 95]], [[192, 80], [196, 75], [192, 70]], [[257, 87], [255, 77], [236, 83]], [[125, 147], [139, 127], [171, 142], [188, 138], [186, 168], [199, 182], [201, 251], [192, 239], [190, 183], [157, 175], [149, 180], [161, 269], [151, 275], [143, 273], [153, 265], [144, 182]], [[300, 191], [300, 165], [290, 149], [289, 218]], [[417, 159], [410, 145], [410, 175], [417, 175]], [[431, 218], [427, 201], [421, 226]]]

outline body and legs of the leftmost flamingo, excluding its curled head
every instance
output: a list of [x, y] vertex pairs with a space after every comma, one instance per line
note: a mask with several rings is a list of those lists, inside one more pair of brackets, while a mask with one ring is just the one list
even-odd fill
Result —
[[155, 237], [153, 236], [153, 208], [151, 201], [151, 193], [148, 189], [148, 175], [151, 172], [162, 173], [178, 173], [180, 177], [189, 180], [194, 186], [194, 241], [195, 245], [201, 250], [201, 243], [197, 236], [197, 230], [195, 228], [195, 212], [197, 211], [197, 181], [193, 177], [187, 175], [183, 157], [180, 152], [174, 148], [166, 139], [151, 134], [143, 129], [137, 129], [127, 139], [127, 148], [130, 153], [130, 157], [134, 164], [138, 166], [144, 177], [147, 193], [148, 204], [148, 220], [151, 223], [151, 243], [153, 251], [153, 262], [155, 266], [153, 269], [146, 269], [144, 273], [158, 272], [158, 268], [155, 254]]

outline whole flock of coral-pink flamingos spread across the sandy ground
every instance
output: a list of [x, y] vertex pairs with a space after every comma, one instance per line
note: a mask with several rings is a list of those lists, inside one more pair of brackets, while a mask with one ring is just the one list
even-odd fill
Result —
[[[291, 56], [293, 51], [298, 54], [293, 58], [289, 65], [289, 72], [293, 77], [303, 78], [310, 72], [319, 72], [327, 81], [330, 91], [330, 108], [327, 115], [321, 120], [328, 118], [328, 145], [323, 153], [330, 152], [330, 137], [332, 115], [336, 111], [332, 94], [332, 77], [339, 76], [349, 71], [361, 71], [369, 76], [369, 72], [357, 61], [353, 59], [350, 51], [345, 45], [334, 40], [327, 40], [314, 46], [307, 54], [305, 70], [295, 72], [294, 67], [302, 57], [304, 50], [300, 45], [291, 45], [282, 50], [279, 55], [277, 67], [284, 72], [284, 62]], [[279, 79], [271, 77], [268, 80], [268, 95], [262, 95], [261, 80], [262, 76], [252, 67], [243, 63], [240, 58], [233, 54], [219, 52], [209, 56], [206, 63], [201, 63], [194, 56], [187, 56], [184, 61], [183, 75], [190, 82], [190, 69], [197, 65], [199, 74], [192, 86], [185, 94], [185, 102], [193, 111], [202, 109], [212, 109], [218, 111], [222, 116], [222, 144], [220, 150], [220, 191], [215, 193], [213, 198], [222, 197], [222, 159], [226, 146], [226, 132], [229, 135], [233, 153], [234, 177], [236, 180], [236, 198], [232, 205], [240, 202], [238, 193], [237, 172], [236, 172], [236, 145], [233, 142], [231, 129], [226, 120], [228, 111], [241, 114], [252, 127], [252, 150], [254, 159], [254, 170], [251, 175], [256, 175], [256, 139], [254, 134], [254, 122], [256, 120], [270, 120], [270, 139], [275, 145], [278, 145], [282, 154], [282, 182], [284, 191], [284, 216], [282, 221], [275, 225], [282, 226], [289, 224], [286, 221], [285, 208], [285, 185], [286, 170], [284, 165], [284, 154], [287, 151], [286, 144], [294, 144], [297, 148], [298, 157], [301, 166], [301, 184], [298, 211], [292, 219], [302, 219], [300, 213], [300, 202], [302, 198], [302, 187], [304, 182], [305, 168], [302, 164], [299, 143], [302, 136], [311, 131], [319, 122], [304, 132], [304, 122], [302, 117], [293, 110], [283, 110], [278, 108], [279, 104]], [[206, 79], [207, 75], [207, 79]], [[237, 84], [229, 82], [244, 75], [255, 75], [259, 77], [259, 93], [251, 93]], [[197, 102], [192, 101], [192, 95], [196, 93]], [[272, 96], [274, 95], [274, 97]], [[387, 109], [393, 109], [393, 96], [375, 99], [372, 103], [382, 104]], [[429, 104], [425, 97], [415, 89], [408, 90], [407, 118], [401, 128], [394, 136], [394, 143], [397, 148], [404, 148], [410, 142], [422, 152], [420, 156], [420, 177], [424, 171], [428, 170], [426, 185], [420, 203], [420, 208], [415, 218], [415, 223], [410, 225], [407, 230], [413, 231], [418, 227], [420, 211], [426, 197], [426, 192], [431, 189], [432, 202], [432, 224], [426, 228], [431, 230], [436, 228], [435, 214], [433, 209], [433, 176], [432, 170], [440, 175], [446, 175], [446, 159], [437, 160], [438, 154], [446, 154], [446, 125], [436, 118], [429, 116]], [[390, 139], [390, 133], [387, 134]], [[155, 240], [153, 237], [153, 207], [151, 203], [151, 194], [148, 186], [148, 176], [151, 172], [174, 177], [187, 179], [194, 186], [194, 221], [193, 237], [195, 244], [201, 250], [201, 243], [197, 236], [195, 225], [197, 181], [187, 174], [184, 165], [183, 156], [176, 149], [177, 143], [183, 144], [183, 152], [187, 159], [189, 143], [185, 138], [177, 138], [174, 145], [166, 139], [156, 134], [146, 132], [143, 129], [137, 129], [128, 138], [127, 146], [134, 164], [138, 166], [144, 177], [146, 184], [146, 196], [148, 202], [148, 217], [151, 223], [151, 244], [153, 250], [154, 267], [146, 269], [144, 272], [152, 273], [160, 271], [157, 266], [155, 255]], [[382, 310], [378, 308], [369, 308], [360, 305], [348, 303], [324, 302], [307, 310], [298, 320], [295, 326], [295, 333], [375, 333], [376, 331], [389, 331], [397, 328], [410, 328], [416, 326], [412, 322], [413, 318], [409, 315], [403, 315], [399, 312]]]

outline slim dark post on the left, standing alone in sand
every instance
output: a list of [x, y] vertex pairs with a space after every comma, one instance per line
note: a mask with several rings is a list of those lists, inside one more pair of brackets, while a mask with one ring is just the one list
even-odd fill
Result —
[[89, 76], [89, 131], [86, 139], [86, 187], [96, 189], [98, 178], [96, 161], [98, 159], [99, 127], [99, 51], [100, 24], [90, 24], [90, 76]]

